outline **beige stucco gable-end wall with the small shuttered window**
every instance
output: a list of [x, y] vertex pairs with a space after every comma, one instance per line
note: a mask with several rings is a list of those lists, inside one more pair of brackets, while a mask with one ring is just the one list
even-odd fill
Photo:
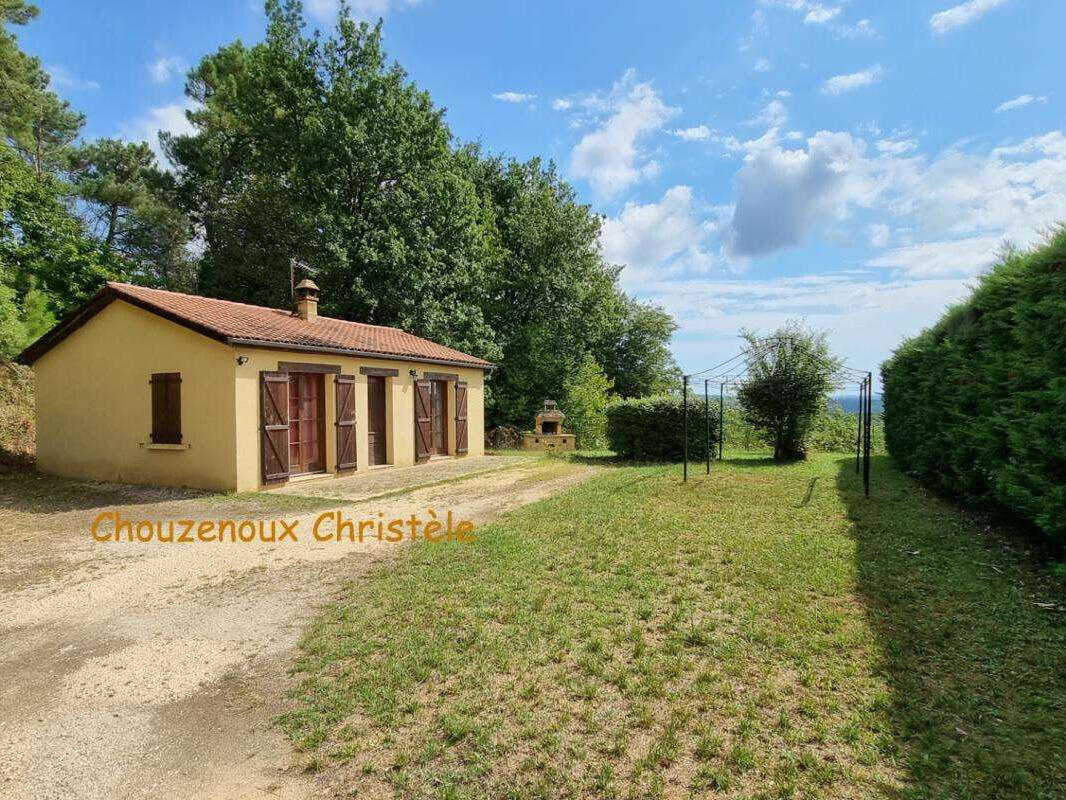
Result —
[[[37, 466], [70, 478], [231, 490], [232, 348], [115, 301], [34, 365]], [[149, 449], [152, 372], [181, 373], [188, 449]]]

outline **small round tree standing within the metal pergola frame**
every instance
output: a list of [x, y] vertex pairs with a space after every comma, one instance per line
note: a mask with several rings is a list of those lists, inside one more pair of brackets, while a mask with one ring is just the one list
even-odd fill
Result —
[[744, 418], [773, 443], [775, 461], [807, 458], [807, 434], [842, 362], [829, 353], [824, 333], [796, 321], [765, 338], [741, 335], [750, 352], [737, 393]]

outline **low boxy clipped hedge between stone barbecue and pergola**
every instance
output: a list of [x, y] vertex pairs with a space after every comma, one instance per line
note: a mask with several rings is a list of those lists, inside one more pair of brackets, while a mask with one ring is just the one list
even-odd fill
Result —
[[[717, 442], [717, 409], [711, 407], [711, 445]], [[621, 400], [607, 410], [608, 446], [625, 459], [680, 461], [684, 451], [684, 409], [679, 397]], [[704, 400], [690, 398], [689, 458], [707, 458]]]

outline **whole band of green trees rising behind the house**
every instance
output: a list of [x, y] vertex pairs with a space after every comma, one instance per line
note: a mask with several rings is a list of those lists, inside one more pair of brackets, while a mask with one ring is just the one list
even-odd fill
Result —
[[0, 0], [5, 353], [113, 276], [287, 307], [295, 258], [322, 314], [496, 362], [489, 425], [529, 425], [582, 371], [621, 397], [673, 383], [673, 319], [619, 288], [554, 164], [457, 142], [381, 22], [342, 10], [309, 33], [297, 0], [265, 12], [261, 43], [190, 70], [192, 132], [161, 135], [162, 169], [147, 143], [78, 141], [83, 117], [11, 33], [36, 10]]

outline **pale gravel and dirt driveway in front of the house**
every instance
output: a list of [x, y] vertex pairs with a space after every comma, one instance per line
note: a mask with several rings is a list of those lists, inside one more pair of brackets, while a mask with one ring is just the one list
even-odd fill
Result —
[[[591, 473], [537, 462], [322, 509], [386, 519], [450, 509], [484, 523]], [[196, 509], [119, 511], [226, 516]], [[342, 581], [400, 546], [317, 542], [321, 510], [265, 515], [298, 519], [296, 543], [99, 543], [97, 511], [19, 514], [17, 530], [0, 518], [0, 798], [311, 797], [271, 724], [293, 649]]]

